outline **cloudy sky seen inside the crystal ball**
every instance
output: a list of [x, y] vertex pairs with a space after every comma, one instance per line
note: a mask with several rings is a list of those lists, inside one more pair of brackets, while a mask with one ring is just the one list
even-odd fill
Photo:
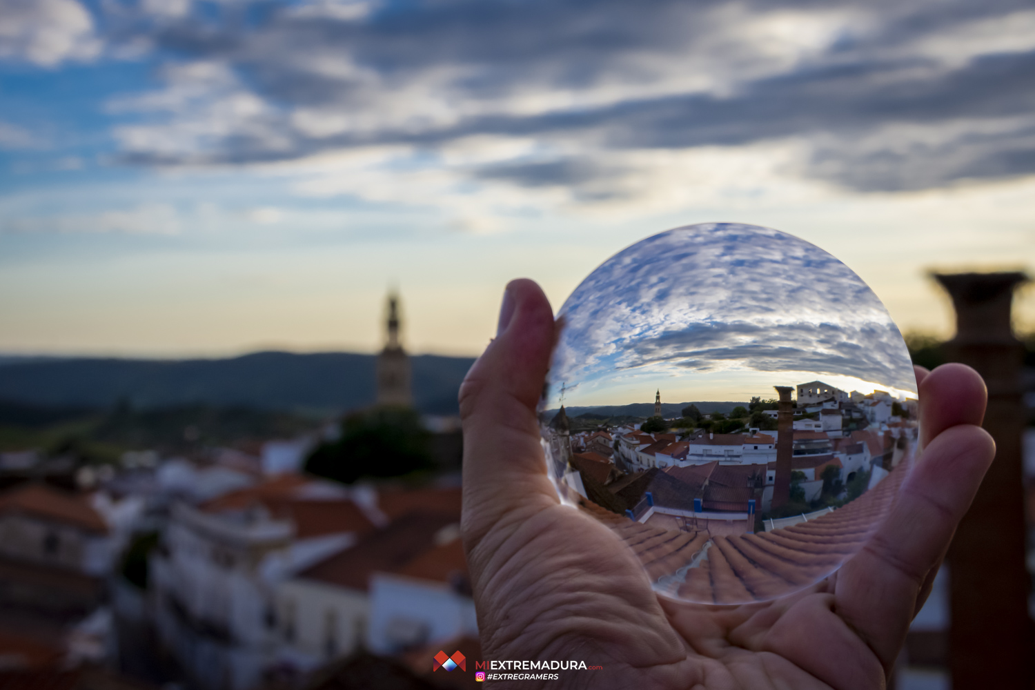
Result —
[[666, 402], [769, 399], [773, 386], [816, 380], [916, 397], [906, 343], [874, 291], [823, 249], [767, 228], [654, 235], [593, 271], [560, 314], [548, 409], [659, 390]]

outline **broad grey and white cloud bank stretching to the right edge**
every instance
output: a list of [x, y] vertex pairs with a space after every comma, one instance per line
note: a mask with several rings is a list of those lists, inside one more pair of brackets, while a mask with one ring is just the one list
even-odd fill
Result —
[[[1022, 0], [105, 7], [111, 51], [166, 65], [110, 104], [123, 162], [293, 167], [299, 188], [428, 203], [456, 227], [1035, 174]], [[474, 141], [492, 153], [465, 157]], [[731, 160], [721, 183], [675, 181]]]

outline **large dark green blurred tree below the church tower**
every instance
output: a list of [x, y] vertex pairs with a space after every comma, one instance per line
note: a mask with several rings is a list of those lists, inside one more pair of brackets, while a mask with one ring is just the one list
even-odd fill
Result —
[[433, 469], [431, 433], [409, 408], [374, 408], [349, 415], [337, 441], [316, 448], [305, 471], [345, 484], [404, 477]]

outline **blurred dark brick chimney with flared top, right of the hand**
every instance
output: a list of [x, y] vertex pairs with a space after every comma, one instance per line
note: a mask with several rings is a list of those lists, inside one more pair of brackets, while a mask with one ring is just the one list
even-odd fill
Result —
[[1028, 690], [1033, 669], [1021, 449], [1024, 348], [1010, 327], [1013, 290], [1027, 276], [934, 277], [956, 310], [956, 336], [945, 344], [946, 355], [984, 379], [988, 407], [982, 425], [996, 440], [996, 459], [949, 546], [952, 687]]

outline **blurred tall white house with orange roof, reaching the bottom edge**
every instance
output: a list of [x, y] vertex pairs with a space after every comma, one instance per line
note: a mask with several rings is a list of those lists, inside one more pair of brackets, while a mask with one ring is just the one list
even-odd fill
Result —
[[256, 686], [279, 647], [278, 582], [375, 530], [322, 484], [285, 474], [173, 506], [149, 594], [159, 639], [198, 687]]

